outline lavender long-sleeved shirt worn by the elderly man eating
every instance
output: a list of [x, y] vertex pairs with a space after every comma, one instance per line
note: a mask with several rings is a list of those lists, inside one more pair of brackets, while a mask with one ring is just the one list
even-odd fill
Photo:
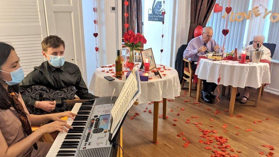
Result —
[[[213, 52], [216, 45], [218, 45], [218, 43], [216, 43], [216, 41], [211, 38], [210, 41], [208, 41], [206, 48], [208, 49], [208, 51]], [[202, 35], [195, 37], [188, 43], [188, 46], [184, 50], [183, 57], [191, 61], [198, 61], [199, 56], [205, 54], [204, 52], [198, 53], [198, 48], [200, 48], [201, 46], [204, 46]]]

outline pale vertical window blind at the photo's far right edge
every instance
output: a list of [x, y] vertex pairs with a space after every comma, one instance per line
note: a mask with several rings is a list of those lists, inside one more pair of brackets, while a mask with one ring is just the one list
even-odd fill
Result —
[[[272, 12], [279, 13], [279, 0], [273, 0]], [[276, 18], [276, 16], [274, 16]], [[273, 60], [279, 60], [279, 21], [270, 22], [269, 33], [267, 37], [268, 43], [275, 43], [276, 49], [272, 57]]]

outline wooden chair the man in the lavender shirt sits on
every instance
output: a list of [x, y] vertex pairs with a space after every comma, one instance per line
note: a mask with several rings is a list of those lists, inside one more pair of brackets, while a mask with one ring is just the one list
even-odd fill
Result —
[[[191, 63], [192, 63], [192, 61], [189, 61], [188, 59], [183, 58], [183, 67], [184, 67], [184, 72], [183, 73], [184, 74], [183, 74], [181, 89], [184, 86], [185, 80], [188, 81], [189, 82], [189, 93], [188, 93], [189, 96], [191, 96], [192, 80], [193, 80], [193, 77], [194, 77], [194, 71], [192, 69]], [[186, 64], [188, 64], [188, 66], [186, 66]], [[189, 76], [189, 78], [186, 78], [185, 75]], [[196, 84], [196, 87], [197, 87], [197, 84]]]

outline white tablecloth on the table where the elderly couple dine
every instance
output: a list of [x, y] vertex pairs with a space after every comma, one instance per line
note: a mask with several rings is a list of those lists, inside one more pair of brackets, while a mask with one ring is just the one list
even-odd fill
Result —
[[[200, 59], [196, 75], [207, 82], [218, 84], [221, 61]], [[222, 60], [220, 71], [220, 84], [233, 87], [259, 88], [262, 84], [270, 84], [270, 71], [268, 63], [246, 63]]]

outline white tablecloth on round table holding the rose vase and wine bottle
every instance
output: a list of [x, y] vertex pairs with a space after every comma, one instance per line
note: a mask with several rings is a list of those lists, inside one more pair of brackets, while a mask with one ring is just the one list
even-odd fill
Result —
[[[138, 67], [139, 66], [140, 64]], [[150, 72], [149, 77], [152, 79], [140, 82], [142, 94], [140, 94], [137, 99], [139, 104], [148, 101], [161, 101], [163, 98], [174, 99], [174, 97], [180, 95], [180, 82], [177, 71], [168, 66], [165, 66], [164, 70], [164, 65], [157, 65], [157, 67], [161, 67], [160, 74], [162, 79], [158, 75], [155, 76], [153, 72]], [[109, 69], [112, 71], [109, 71]], [[109, 73], [107, 73], [107, 71]], [[113, 77], [115, 80], [108, 81], [104, 78], [104, 76], [113, 76], [115, 74], [114, 72], [115, 67], [99, 67], [93, 73], [89, 90], [91, 90], [95, 96], [103, 97], [111, 96], [113, 88], [115, 88], [114, 96], [118, 96], [124, 86], [127, 72], [125, 72], [122, 80]], [[166, 75], [164, 76], [164, 74]]]

